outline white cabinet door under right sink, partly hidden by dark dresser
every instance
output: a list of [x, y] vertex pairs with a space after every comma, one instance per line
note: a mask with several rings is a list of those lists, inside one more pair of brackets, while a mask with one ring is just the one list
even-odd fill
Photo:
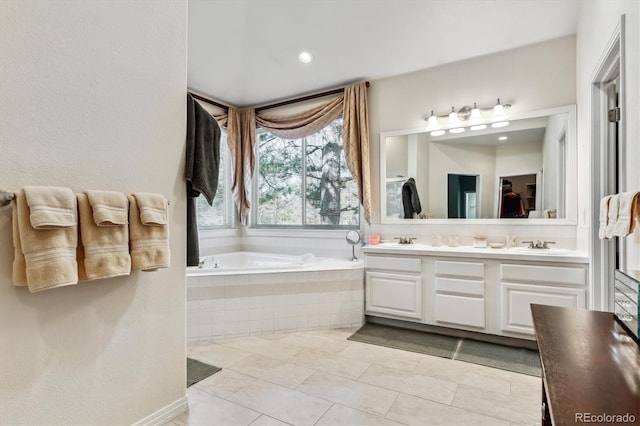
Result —
[[580, 288], [502, 282], [500, 299], [502, 331], [534, 336], [529, 305], [535, 303], [565, 308], [584, 308], [585, 291]]

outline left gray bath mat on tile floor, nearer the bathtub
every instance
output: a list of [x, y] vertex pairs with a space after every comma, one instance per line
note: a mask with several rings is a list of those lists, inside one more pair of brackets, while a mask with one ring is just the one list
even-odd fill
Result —
[[453, 358], [459, 339], [440, 334], [367, 323], [353, 333], [349, 340], [443, 358]]

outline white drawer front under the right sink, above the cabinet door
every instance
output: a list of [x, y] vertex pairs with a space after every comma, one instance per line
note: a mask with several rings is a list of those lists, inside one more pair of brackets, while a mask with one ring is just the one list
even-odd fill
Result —
[[584, 268], [569, 266], [500, 265], [500, 273], [506, 281], [560, 283], [584, 286]]

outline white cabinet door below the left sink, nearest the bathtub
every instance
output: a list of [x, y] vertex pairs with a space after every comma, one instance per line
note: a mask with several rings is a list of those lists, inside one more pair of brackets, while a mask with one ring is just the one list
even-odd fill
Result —
[[367, 272], [365, 292], [367, 314], [422, 321], [421, 276]]

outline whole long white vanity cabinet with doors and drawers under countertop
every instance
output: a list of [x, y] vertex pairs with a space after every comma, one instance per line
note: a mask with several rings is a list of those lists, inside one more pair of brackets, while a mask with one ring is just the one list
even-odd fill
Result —
[[586, 255], [368, 247], [368, 316], [534, 340], [531, 304], [586, 308]]

